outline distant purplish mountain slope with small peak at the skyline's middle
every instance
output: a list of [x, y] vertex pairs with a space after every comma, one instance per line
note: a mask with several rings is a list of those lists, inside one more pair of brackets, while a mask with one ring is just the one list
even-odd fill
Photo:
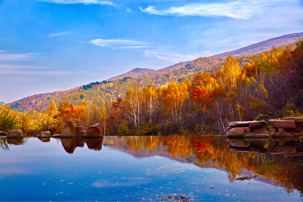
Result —
[[118, 75], [118, 76], [112, 77], [110, 79], [107, 79], [107, 81], [115, 81], [118, 78], [124, 78], [124, 77], [131, 77], [131, 78], [151, 77], [151, 76], [155, 76], [155, 75], [158, 75], [158, 74], [173, 71], [175, 68], [182, 67], [182, 66], [188, 64], [189, 62], [191, 62], [191, 61], [179, 62], [175, 65], [171, 65], [169, 67], [161, 68], [161, 69], [158, 69], [158, 70], [148, 69], [148, 68], [135, 68], [135, 69], [132, 69], [131, 71], [128, 71], [128, 72], [126, 72], [122, 75]]

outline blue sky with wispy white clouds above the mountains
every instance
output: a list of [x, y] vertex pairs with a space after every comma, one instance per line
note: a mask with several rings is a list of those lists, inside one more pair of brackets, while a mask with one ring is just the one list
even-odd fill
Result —
[[0, 101], [303, 31], [303, 2], [0, 0]]

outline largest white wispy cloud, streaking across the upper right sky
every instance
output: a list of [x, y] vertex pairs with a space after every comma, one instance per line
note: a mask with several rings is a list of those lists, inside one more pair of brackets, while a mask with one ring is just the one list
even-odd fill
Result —
[[[268, 4], [268, 3], [267, 3]], [[140, 8], [142, 12], [155, 15], [179, 15], [179, 16], [225, 16], [230, 18], [248, 19], [265, 6], [264, 1], [233, 1], [228, 3], [201, 3], [188, 4], [181, 7], [174, 7], [163, 10], [156, 10], [155, 7]]]

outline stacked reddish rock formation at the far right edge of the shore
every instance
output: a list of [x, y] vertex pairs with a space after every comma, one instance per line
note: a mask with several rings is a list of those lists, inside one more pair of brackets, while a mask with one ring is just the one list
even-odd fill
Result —
[[275, 128], [272, 137], [297, 137], [303, 130], [303, 118], [285, 117], [282, 120], [269, 120], [269, 124]]

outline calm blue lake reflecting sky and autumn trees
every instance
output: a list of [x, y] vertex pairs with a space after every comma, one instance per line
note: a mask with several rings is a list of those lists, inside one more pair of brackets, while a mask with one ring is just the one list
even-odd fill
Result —
[[299, 138], [0, 139], [0, 201], [301, 201]]

